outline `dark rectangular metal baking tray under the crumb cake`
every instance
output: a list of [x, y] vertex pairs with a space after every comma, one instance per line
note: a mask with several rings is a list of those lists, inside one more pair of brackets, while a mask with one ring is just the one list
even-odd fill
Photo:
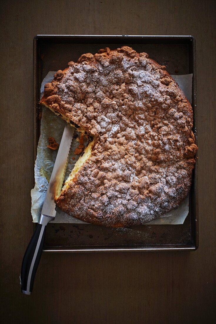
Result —
[[[33, 41], [34, 61], [34, 148], [37, 156], [40, 132], [39, 96], [42, 79], [49, 71], [67, 67], [81, 54], [97, 52], [109, 46], [132, 46], [147, 52], [170, 74], [193, 74], [193, 132], [197, 143], [196, 46], [192, 36], [130, 36], [130, 35], [37, 35]], [[32, 187], [34, 170], [32, 170]], [[32, 231], [35, 225], [32, 226]], [[198, 160], [192, 174], [189, 193], [189, 214], [182, 225], [141, 225], [128, 229], [106, 228], [92, 224], [54, 224], [47, 226], [45, 252], [114, 252], [165, 251], [198, 248]]]

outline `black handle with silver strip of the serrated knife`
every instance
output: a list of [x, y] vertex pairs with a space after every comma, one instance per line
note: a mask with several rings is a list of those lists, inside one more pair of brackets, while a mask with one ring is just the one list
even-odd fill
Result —
[[[40, 262], [40, 257], [43, 251], [44, 237], [46, 232], [46, 225], [53, 217], [41, 215], [36, 230], [27, 246], [26, 252], [23, 257], [20, 285], [23, 294], [31, 295], [35, 275]], [[41, 224], [39, 224], [41, 223]]]

